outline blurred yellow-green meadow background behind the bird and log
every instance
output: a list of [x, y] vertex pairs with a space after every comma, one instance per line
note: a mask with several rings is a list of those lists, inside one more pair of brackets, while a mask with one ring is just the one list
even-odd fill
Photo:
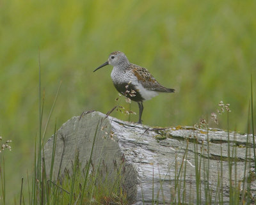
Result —
[[[106, 113], [116, 105], [112, 67], [92, 72], [114, 50], [176, 89], [144, 103], [145, 125], [193, 126], [223, 100], [232, 110], [230, 128], [246, 132], [251, 74], [256, 82], [255, 10], [254, 0], [0, 1], [0, 135], [13, 140], [13, 151], [4, 153], [7, 198], [19, 195], [21, 177], [32, 172], [39, 49], [43, 126], [62, 80], [46, 140], [55, 119], [60, 128], [84, 110]], [[137, 103], [131, 109], [138, 113]], [[227, 129], [225, 119], [219, 127]]]

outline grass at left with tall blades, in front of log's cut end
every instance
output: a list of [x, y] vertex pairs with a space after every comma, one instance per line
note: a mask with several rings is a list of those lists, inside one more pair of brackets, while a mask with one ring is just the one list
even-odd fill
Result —
[[[34, 166], [33, 176], [30, 176], [32, 180], [29, 180], [28, 176], [28, 196], [25, 195], [27, 190], [24, 189], [24, 178], [22, 178], [19, 204], [116, 204], [125, 205], [128, 204], [126, 199], [125, 191], [122, 190], [124, 179], [121, 176], [123, 170], [122, 163], [116, 164], [115, 171], [108, 173], [108, 169], [104, 163], [99, 163], [97, 166], [92, 163], [92, 153], [95, 145], [95, 139], [99, 132], [98, 126], [102, 121], [99, 121], [97, 128], [95, 129], [95, 135], [93, 137], [92, 150], [90, 158], [86, 163], [85, 167], [81, 167], [79, 162], [79, 151], [76, 151], [74, 160], [72, 161], [72, 171], [65, 170], [64, 174], [58, 173], [57, 179], [52, 179], [55, 150], [56, 150], [56, 123], [54, 126], [54, 136], [52, 145], [52, 158], [51, 158], [51, 169], [49, 175], [45, 171], [45, 160], [44, 160], [44, 144], [42, 139], [44, 135], [41, 135], [42, 131], [42, 119], [44, 113], [44, 100], [45, 95], [41, 98], [41, 75], [40, 75], [40, 56], [39, 56], [39, 80], [38, 80], [38, 116], [39, 116], [39, 137], [36, 144], [35, 140], [35, 154], [34, 154]], [[52, 110], [54, 108], [60, 86], [54, 102], [52, 103], [52, 109], [49, 114], [45, 130], [51, 119]], [[101, 125], [101, 124], [100, 124]], [[44, 132], [45, 133], [45, 132]], [[35, 138], [37, 139], [37, 137]], [[2, 138], [1, 138], [2, 140]], [[2, 143], [1, 149], [11, 149], [8, 145], [9, 141]], [[61, 165], [60, 165], [61, 166]], [[59, 169], [60, 171], [60, 169]], [[6, 179], [5, 179], [5, 165], [4, 158], [0, 161], [0, 176], [1, 176], [1, 204], [6, 204]], [[29, 185], [29, 181], [32, 181], [32, 185]], [[31, 187], [31, 188], [30, 188]], [[14, 202], [17, 204], [17, 199], [14, 197]]]

